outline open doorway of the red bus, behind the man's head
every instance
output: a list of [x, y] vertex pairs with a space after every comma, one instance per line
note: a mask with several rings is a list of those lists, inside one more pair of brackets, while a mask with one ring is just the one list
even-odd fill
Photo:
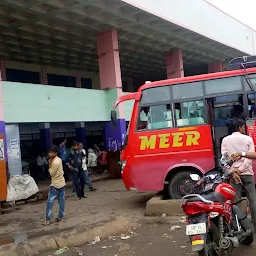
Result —
[[234, 117], [245, 119], [244, 96], [241, 94], [217, 96], [207, 99], [208, 119], [213, 127], [213, 140], [218, 166], [221, 157], [221, 142], [224, 137], [229, 135], [230, 124]]

